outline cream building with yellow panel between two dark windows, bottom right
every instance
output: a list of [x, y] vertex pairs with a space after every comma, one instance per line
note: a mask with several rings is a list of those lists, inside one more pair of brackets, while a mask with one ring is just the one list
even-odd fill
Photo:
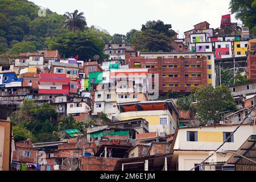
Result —
[[[203, 162], [216, 150], [238, 125], [181, 127], [175, 133], [171, 168], [189, 171]], [[256, 126], [242, 125], [236, 133], [220, 148], [225, 151], [237, 151], [245, 140], [255, 133]], [[222, 156], [218, 153], [209, 158], [204, 166], [193, 170], [215, 171], [233, 154]], [[212, 163], [212, 164], [211, 164]]]

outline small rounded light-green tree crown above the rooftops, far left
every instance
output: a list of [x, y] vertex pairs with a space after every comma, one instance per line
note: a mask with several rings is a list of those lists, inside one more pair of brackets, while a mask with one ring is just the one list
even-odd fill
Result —
[[20, 52], [35, 52], [36, 46], [33, 42], [20, 42], [13, 45], [10, 52], [18, 55]]

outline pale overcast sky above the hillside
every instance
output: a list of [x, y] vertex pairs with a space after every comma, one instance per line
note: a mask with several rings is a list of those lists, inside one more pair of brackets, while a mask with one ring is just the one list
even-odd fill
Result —
[[[147, 20], [163, 20], [179, 32], [191, 30], [194, 24], [220, 26], [221, 15], [229, 14], [230, 0], [30, 0], [58, 14], [84, 12], [88, 26], [96, 25], [111, 35], [139, 30]], [[232, 16], [232, 21], [237, 22]], [[180, 34], [180, 38], [183, 35]]]

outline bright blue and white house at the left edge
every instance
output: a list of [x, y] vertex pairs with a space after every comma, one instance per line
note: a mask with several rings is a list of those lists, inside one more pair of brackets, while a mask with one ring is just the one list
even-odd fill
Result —
[[0, 74], [0, 88], [22, 86], [22, 78], [17, 78], [14, 72]]

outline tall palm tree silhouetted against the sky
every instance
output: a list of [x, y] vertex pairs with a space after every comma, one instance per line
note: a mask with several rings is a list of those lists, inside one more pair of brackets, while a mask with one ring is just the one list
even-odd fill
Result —
[[87, 26], [84, 13], [78, 13], [78, 10], [75, 10], [74, 13], [66, 12], [64, 14], [65, 20], [61, 23], [63, 28], [68, 28], [73, 33], [77, 30], [84, 31]]

